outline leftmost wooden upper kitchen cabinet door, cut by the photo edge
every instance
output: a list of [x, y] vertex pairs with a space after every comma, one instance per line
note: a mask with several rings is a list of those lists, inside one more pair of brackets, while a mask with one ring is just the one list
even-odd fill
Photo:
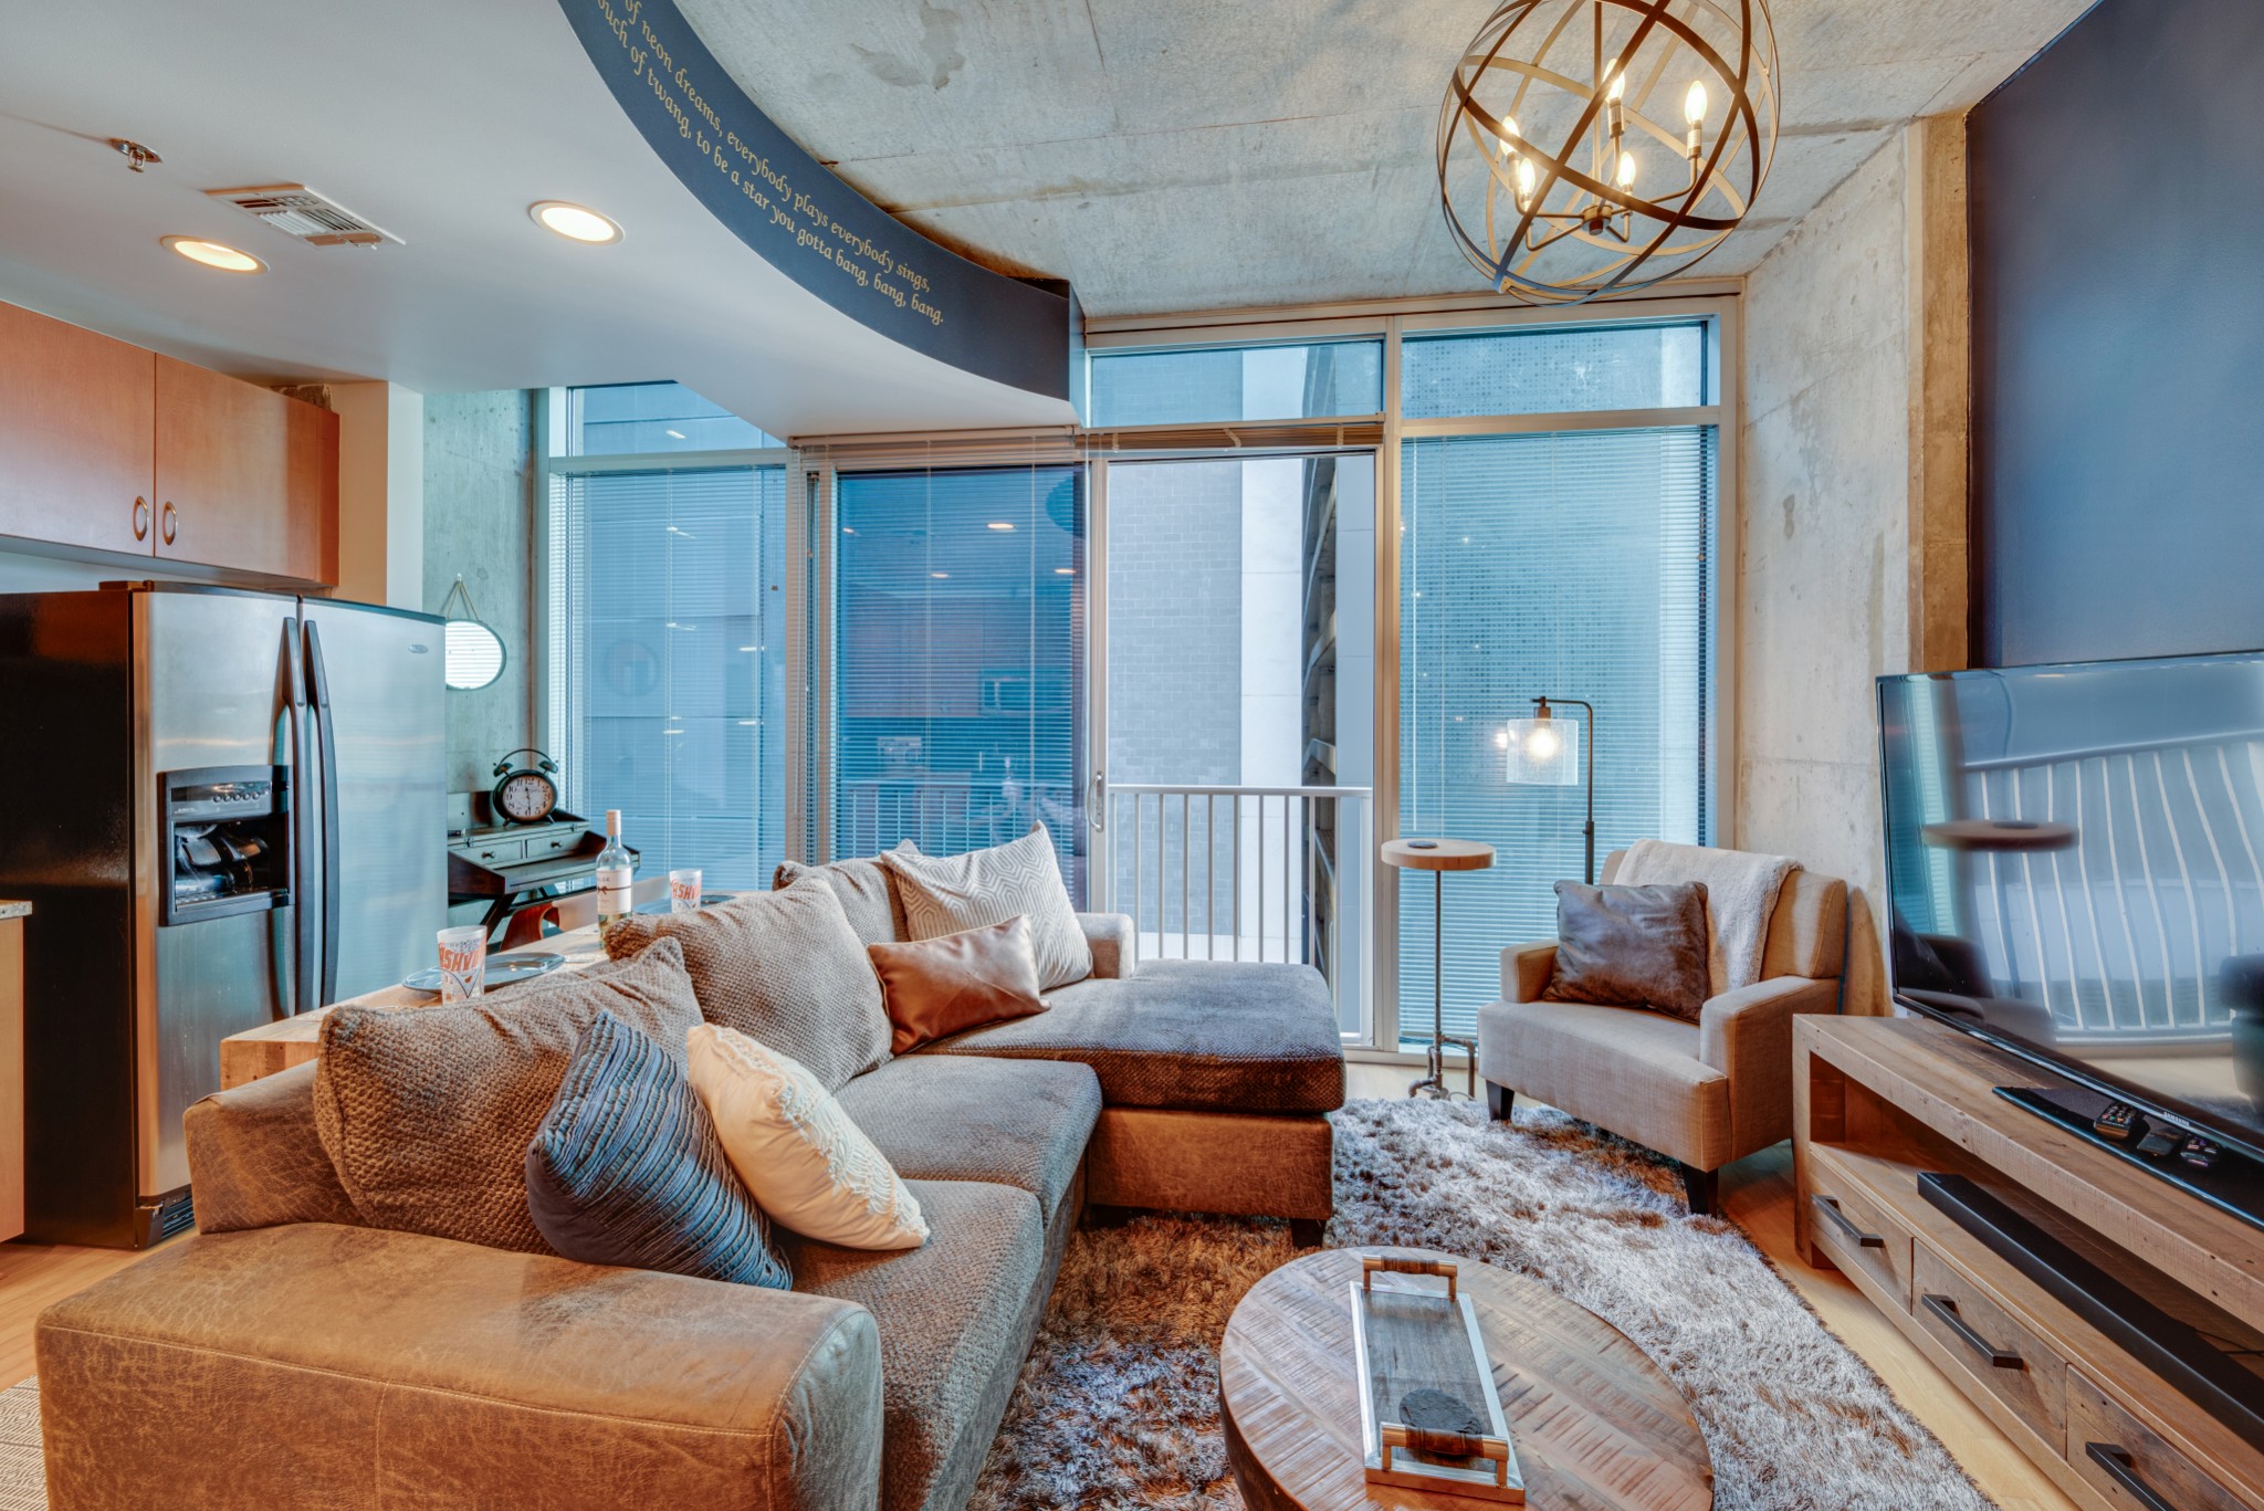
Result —
[[0, 535], [149, 555], [158, 360], [0, 304]]

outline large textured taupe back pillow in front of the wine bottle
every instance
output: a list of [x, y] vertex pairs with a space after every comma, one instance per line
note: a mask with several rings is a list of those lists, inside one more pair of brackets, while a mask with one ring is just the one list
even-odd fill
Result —
[[629, 913], [604, 931], [616, 961], [677, 940], [711, 1024], [777, 1044], [835, 1090], [887, 1060], [887, 1013], [865, 945], [824, 881], [740, 893], [697, 913]]

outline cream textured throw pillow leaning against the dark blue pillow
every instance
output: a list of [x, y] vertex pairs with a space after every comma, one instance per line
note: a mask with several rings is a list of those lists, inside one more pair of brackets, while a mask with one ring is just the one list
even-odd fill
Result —
[[770, 1221], [842, 1248], [928, 1241], [887, 1158], [806, 1067], [718, 1024], [693, 1028], [686, 1051], [724, 1158]]

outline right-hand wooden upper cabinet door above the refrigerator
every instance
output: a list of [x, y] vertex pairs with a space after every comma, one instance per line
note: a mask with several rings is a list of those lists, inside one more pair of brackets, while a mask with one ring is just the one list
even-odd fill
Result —
[[337, 582], [337, 415], [156, 358], [156, 557]]

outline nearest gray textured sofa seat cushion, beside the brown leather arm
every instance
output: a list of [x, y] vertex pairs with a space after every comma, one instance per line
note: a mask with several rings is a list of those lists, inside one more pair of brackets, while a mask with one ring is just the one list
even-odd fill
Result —
[[958, 1504], [953, 1482], [998, 1432], [1005, 1402], [994, 1384], [1021, 1364], [1021, 1321], [1046, 1271], [1046, 1228], [1028, 1192], [915, 1180], [912, 1194], [933, 1230], [921, 1248], [874, 1253], [781, 1232], [797, 1291], [854, 1300], [881, 1325], [881, 1511]]

